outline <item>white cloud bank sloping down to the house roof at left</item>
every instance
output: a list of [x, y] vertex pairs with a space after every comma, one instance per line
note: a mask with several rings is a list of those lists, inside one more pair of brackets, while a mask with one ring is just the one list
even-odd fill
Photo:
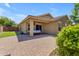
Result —
[[0, 7], [0, 16], [9, 17], [16, 23], [20, 23], [20, 21], [22, 21], [25, 17], [27, 17], [26, 14], [13, 13], [10, 10], [7, 10], [1, 7]]

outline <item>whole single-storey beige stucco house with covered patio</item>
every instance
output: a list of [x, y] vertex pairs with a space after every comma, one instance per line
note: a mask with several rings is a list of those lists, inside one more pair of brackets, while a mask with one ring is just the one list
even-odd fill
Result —
[[67, 26], [67, 15], [53, 17], [51, 14], [27, 16], [20, 24], [19, 30], [33, 36], [34, 33], [57, 34], [63, 26]]

